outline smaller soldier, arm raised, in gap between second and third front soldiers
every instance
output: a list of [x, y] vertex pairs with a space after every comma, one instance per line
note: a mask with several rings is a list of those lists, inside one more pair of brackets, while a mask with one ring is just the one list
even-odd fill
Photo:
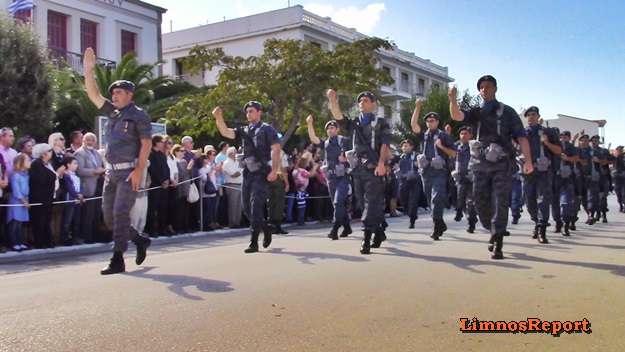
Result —
[[347, 237], [352, 233], [352, 228], [349, 225], [349, 214], [347, 213], [349, 193], [349, 175], [347, 175], [347, 171], [349, 164], [347, 164], [347, 158], [345, 158], [345, 152], [351, 149], [352, 143], [349, 138], [339, 135], [339, 124], [335, 120], [330, 120], [325, 124], [325, 130], [328, 134], [327, 139], [317, 137], [313, 121], [312, 115], [306, 118], [308, 137], [317, 148], [325, 150], [326, 158], [321, 166], [321, 172], [328, 181], [328, 190], [334, 206], [333, 225], [328, 238], [338, 240], [338, 232], [341, 227], [343, 227], [341, 237]]

